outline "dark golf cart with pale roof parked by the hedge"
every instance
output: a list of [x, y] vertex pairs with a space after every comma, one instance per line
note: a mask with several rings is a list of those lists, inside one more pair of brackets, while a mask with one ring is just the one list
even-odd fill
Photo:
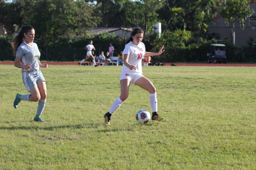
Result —
[[207, 56], [209, 56], [208, 63], [227, 63], [224, 44], [211, 44], [211, 53], [208, 53]]

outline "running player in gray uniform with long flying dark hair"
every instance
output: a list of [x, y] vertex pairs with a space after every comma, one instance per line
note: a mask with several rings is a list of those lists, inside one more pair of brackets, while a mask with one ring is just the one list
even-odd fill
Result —
[[[10, 42], [16, 58], [14, 66], [21, 68], [23, 83], [30, 94], [17, 94], [13, 102], [16, 109], [21, 100], [38, 101], [38, 108], [34, 121], [45, 122], [40, 116], [44, 111], [46, 103], [46, 84], [44, 76], [39, 67], [46, 68], [48, 64], [40, 63], [40, 52], [37, 44], [34, 43], [35, 30], [33, 27], [25, 25], [15, 38]], [[22, 61], [22, 64], [20, 63]]]

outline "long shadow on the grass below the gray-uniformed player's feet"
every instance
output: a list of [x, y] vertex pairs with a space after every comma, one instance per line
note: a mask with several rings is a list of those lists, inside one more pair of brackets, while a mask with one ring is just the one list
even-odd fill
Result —
[[71, 128], [71, 129], [89, 129], [89, 128], [96, 128], [98, 127], [97, 124], [86, 124], [86, 125], [61, 125], [61, 126], [48, 126], [48, 127], [38, 127], [38, 126], [13, 126], [13, 127], [0, 127], [0, 130], [48, 130], [53, 131], [55, 129], [64, 129], [64, 128]]

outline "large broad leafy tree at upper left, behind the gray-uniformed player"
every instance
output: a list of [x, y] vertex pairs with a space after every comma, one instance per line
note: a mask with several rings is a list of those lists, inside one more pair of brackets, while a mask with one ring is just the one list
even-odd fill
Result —
[[60, 39], [71, 37], [75, 31], [96, 26], [92, 5], [82, 0], [16, 0], [20, 8], [22, 25], [31, 25], [36, 30], [36, 39], [50, 46]]

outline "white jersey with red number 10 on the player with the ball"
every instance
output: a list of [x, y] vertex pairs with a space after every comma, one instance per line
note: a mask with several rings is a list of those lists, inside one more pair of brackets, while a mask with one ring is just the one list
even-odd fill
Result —
[[133, 44], [131, 41], [125, 45], [123, 54], [128, 54], [128, 63], [134, 65], [137, 69], [130, 70], [128, 67], [123, 65], [121, 73], [128, 73], [130, 75], [141, 75], [142, 67], [141, 60], [144, 57], [146, 52], [145, 45], [143, 42], [140, 42], [138, 45]]

